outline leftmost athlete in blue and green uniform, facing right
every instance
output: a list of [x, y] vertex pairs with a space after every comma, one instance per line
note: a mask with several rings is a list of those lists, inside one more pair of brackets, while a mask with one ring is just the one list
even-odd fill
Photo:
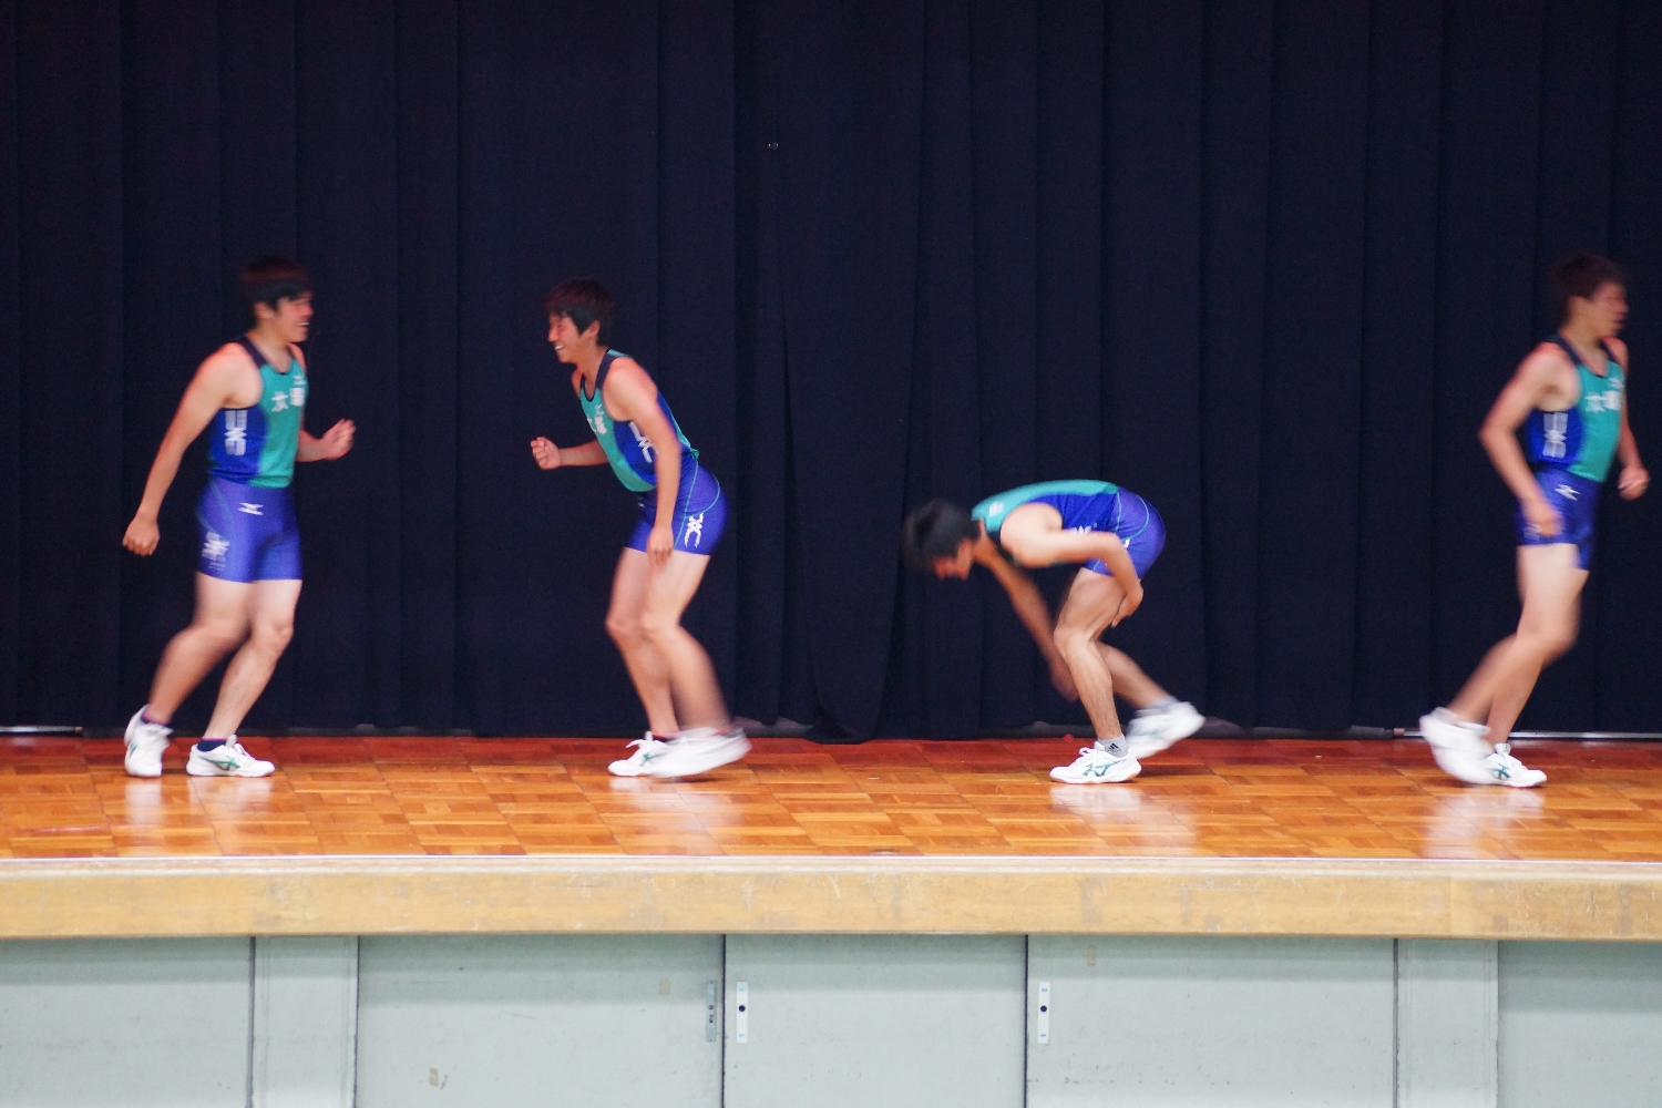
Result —
[[337, 458], [352, 449], [352, 422], [312, 439], [301, 427], [311, 384], [299, 342], [311, 326], [306, 271], [261, 257], [243, 271], [254, 327], [219, 347], [196, 370], [173, 415], [145, 498], [121, 545], [150, 555], [160, 542], [156, 513], [179, 457], [208, 430], [208, 488], [196, 520], [196, 618], [161, 655], [150, 703], [126, 724], [126, 771], [160, 777], [173, 713], [231, 650], [219, 699], [184, 771], [198, 777], [264, 777], [274, 767], [236, 741], [243, 716], [271, 679], [294, 626], [301, 595], [301, 540], [289, 500], [294, 462]]

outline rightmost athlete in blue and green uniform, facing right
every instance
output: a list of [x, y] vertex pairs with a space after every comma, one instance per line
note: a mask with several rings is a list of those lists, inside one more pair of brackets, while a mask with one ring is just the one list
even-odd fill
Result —
[[[1517, 497], [1517, 631], [1496, 643], [1448, 708], [1419, 719], [1438, 764], [1469, 784], [1531, 787], [1547, 779], [1506, 738], [1542, 666], [1576, 643], [1592, 525], [1610, 463], [1632, 500], [1650, 475], [1627, 427], [1625, 277], [1607, 257], [1579, 254], [1554, 274], [1562, 326], [1522, 360], [1483, 424], [1489, 460]], [[1529, 455], [1517, 445], [1526, 427]], [[1479, 723], [1484, 721], [1484, 723]], [[1489, 746], [1489, 739], [1501, 739]]]

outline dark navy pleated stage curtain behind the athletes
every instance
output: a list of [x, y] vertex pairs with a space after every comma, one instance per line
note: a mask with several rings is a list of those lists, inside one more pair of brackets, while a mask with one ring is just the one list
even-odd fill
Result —
[[[1650, 0], [0, 0], [0, 721], [118, 724], [189, 618], [234, 274], [311, 267], [297, 633], [249, 721], [625, 733], [633, 502], [538, 296], [593, 274], [733, 503], [688, 623], [738, 713], [1079, 721], [931, 495], [1104, 477], [1168, 545], [1112, 641], [1242, 724], [1409, 724], [1516, 620], [1476, 429], [1571, 249], [1632, 272], [1662, 470]], [[1662, 492], [1604, 505], [1526, 726], [1662, 721]], [[1055, 596], [1067, 581], [1047, 571]], [[201, 723], [209, 688], [186, 708]]]

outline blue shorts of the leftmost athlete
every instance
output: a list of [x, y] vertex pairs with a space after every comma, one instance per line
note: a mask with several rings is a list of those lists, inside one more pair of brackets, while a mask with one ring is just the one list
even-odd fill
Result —
[[301, 580], [301, 528], [288, 488], [209, 477], [196, 507], [203, 547], [196, 568], [221, 581]]

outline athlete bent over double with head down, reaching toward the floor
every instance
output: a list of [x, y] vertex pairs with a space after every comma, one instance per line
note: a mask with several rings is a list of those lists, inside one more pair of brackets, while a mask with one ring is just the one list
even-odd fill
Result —
[[[1143, 598], [1142, 578], [1165, 547], [1160, 513], [1137, 493], [1097, 480], [1024, 485], [989, 497], [969, 512], [932, 500], [906, 517], [906, 560], [936, 576], [967, 578], [974, 565], [992, 571], [1050, 664], [1050, 681], [1085, 701], [1097, 743], [1050, 776], [1067, 784], [1130, 781], [1148, 757], [1187, 739], [1205, 718], [1155, 684], [1124, 651], [1099, 641]], [[1067, 601], [1050, 611], [1017, 566], [1082, 566]], [[1130, 738], [1114, 711], [1119, 693], [1140, 711]]]

